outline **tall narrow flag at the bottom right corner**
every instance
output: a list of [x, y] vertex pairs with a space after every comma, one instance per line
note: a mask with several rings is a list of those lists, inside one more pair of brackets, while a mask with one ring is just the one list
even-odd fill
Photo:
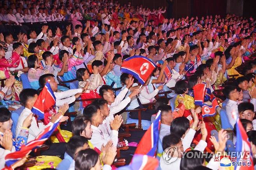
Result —
[[[243, 128], [243, 125], [240, 121], [240, 119], [237, 116], [237, 144], [236, 144], [236, 152], [237, 153], [248, 153], [249, 154], [240, 154], [240, 156], [237, 156], [237, 162], [242, 163], [245, 162], [245, 164], [238, 166], [238, 164], [235, 166], [235, 170], [254, 170], [253, 166], [253, 160], [252, 160], [252, 151], [251, 151], [251, 144], [248, 140], [248, 136], [246, 134], [245, 129]], [[244, 166], [245, 165], [245, 166]]]

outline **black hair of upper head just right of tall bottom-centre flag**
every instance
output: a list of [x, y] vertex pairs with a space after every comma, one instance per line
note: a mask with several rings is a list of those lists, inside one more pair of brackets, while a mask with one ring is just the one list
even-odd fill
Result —
[[189, 120], [185, 117], [179, 117], [179, 118], [175, 118], [172, 121], [170, 132], [171, 134], [174, 133], [181, 138], [182, 135], [184, 135], [185, 132], [188, 130], [188, 128], [189, 128]]

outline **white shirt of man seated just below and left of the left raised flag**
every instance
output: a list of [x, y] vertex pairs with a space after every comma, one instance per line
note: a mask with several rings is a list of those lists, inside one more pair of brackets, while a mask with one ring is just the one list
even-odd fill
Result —
[[[25, 108], [21, 115], [19, 116], [17, 127], [16, 127], [16, 137], [19, 135], [19, 132], [22, 128], [23, 121], [28, 117], [28, 115], [32, 113], [32, 111], [28, 108]], [[50, 122], [51, 123], [51, 122]], [[46, 127], [42, 121], [38, 123], [37, 126], [37, 120], [35, 119], [35, 116], [32, 118], [31, 126], [28, 130], [28, 142], [32, 141], [37, 137], [37, 135]]]

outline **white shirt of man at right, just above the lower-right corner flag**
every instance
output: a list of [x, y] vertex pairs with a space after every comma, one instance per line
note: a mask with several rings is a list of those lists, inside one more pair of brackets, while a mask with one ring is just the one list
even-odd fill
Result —
[[238, 108], [237, 108], [237, 101], [228, 100], [226, 104], [226, 114], [228, 115], [228, 120], [230, 122], [230, 125], [234, 127], [236, 123], [236, 119], [233, 118], [232, 113], [235, 112], [238, 116]]

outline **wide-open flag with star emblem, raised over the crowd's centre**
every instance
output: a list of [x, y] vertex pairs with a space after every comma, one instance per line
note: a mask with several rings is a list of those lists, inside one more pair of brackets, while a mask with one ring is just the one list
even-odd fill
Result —
[[144, 56], [132, 56], [123, 61], [121, 71], [133, 75], [142, 85], [151, 76], [156, 65]]

